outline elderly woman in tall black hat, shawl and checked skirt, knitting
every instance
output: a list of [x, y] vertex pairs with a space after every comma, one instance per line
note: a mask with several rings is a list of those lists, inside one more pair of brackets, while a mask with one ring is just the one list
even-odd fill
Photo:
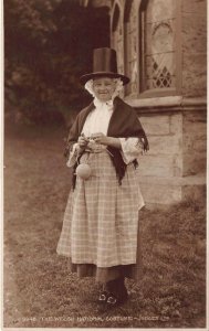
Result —
[[58, 245], [72, 271], [103, 284], [98, 301], [111, 307], [127, 299], [125, 277], [140, 274], [137, 158], [148, 141], [135, 110], [118, 97], [128, 82], [117, 73], [114, 50], [94, 50], [93, 73], [81, 77], [94, 100], [67, 139], [73, 185]]

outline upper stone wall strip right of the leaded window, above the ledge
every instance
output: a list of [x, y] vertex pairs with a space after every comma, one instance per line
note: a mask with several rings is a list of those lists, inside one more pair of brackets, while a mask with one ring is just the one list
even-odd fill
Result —
[[182, 95], [202, 96], [207, 88], [207, 1], [181, 1]]

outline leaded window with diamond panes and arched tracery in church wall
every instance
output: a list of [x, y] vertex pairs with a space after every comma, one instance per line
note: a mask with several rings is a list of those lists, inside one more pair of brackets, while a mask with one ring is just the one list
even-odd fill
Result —
[[149, 0], [140, 14], [142, 90], [176, 86], [176, 0]]

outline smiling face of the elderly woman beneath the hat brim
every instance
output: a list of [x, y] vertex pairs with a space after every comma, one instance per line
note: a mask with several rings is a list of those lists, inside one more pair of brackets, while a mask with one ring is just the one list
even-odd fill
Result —
[[95, 78], [93, 81], [93, 89], [97, 99], [108, 102], [115, 92], [115, 82], [108, 77]]

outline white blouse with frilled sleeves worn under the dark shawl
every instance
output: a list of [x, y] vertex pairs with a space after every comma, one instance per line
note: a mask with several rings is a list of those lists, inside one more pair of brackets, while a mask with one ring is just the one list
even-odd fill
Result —
[[[91, 137], [92, 134], [102, 132], [107, 135], [108, 124], [113, 114], [113, 102], [101, 103], [94, 99], [95, 109], [86, 117], [82, 134]], [[118, 138], [122, 145], [122, 157], [126, 164], [143, 154], [143, 141], [139, 138]], [[79, 143], [74, 143], [70, 153], [67, 167], [73, 167], [76, 162]]]

